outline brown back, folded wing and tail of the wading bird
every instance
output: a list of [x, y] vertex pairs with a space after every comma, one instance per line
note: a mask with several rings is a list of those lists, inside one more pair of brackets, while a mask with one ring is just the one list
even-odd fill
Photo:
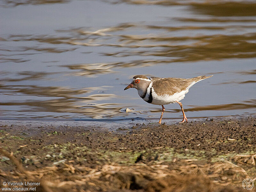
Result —
[[186, 90], [189, 85], [192, 83], [196, 83], [197, 81], [209, 78], [211, 76], [198, 76], [189, 79], [182, 78], [159, 78], [159, 77], [151, 77], [153, 81], [153, 88], [158, 95], [169, 94], [173, 95], [176, 92], [181, 92]]

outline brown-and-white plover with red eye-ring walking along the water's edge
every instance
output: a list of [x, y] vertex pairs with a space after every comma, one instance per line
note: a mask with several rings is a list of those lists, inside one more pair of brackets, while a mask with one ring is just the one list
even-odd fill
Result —
[[207, 79], [211, 76], [197, 76], [193, 78], [183, 79], [183, 78], [161, 78], [161, 77], [146, 77], [145, 75], [136, 75], [132, 78], [132, 83], [130, 83], [124, 90], [129, 88], [135, 88], [138, 90], [139, 96], [146, 102], [153, 105], [162, 106], [162, 114], [159, 119], [159, 124], [162, 122], [162, 117], [164, 114], [164, 105], [171, 103], [178, 103], [180, 105], [183, 120], [180, 123], [184, 123], [185, 120], [188, 123], [187, 116], [184, 113], [184, 109], [180, 100], [184, 99], [185, 94], [192, 85], [199, 81]]

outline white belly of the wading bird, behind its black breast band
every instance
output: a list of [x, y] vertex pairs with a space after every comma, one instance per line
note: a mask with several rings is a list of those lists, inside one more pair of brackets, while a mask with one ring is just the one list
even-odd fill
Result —
[[180, 101], [185, 97], [185, 94], [188, 92], [187, 90], [181, 91], [179, 93], [174, 93], [173, 95], [161, 95], [158, 96], [153, 90], [152, 90], [152, 103], [154, 105], [167, 105], [170, 103], [175, 103], [175, 101]]

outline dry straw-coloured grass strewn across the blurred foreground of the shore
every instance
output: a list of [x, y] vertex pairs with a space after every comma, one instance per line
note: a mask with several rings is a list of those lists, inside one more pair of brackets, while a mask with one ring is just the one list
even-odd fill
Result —
[[[95, 168], [83, 165], [61, 163], [52, 167], [27, 171], [12, 153], [0, 147], [0, 153], [10, 158], [15, 164], [15, 172], [0, 170], [1, 177], [9, 181], [40, 182], [36, 191], [189, 191], [191, 186], [199, 191], [214, 191], [225, 186], [241, 186], [241, 181], [250, 178], [246, 171], [227, 160], [208, 164], [196, 164], [194, 159], [164, 164], [119, 164], [99, 165]], [[255, 155], [253, 155], [253, 158]], [[236, 156], [236, 161], [252, 156]], [[187, 183], [187, 184], [186, 184]], [[196, 190], [196, 191], [198, 191]], [[235, 191], [235, 188], [234, 188]]]

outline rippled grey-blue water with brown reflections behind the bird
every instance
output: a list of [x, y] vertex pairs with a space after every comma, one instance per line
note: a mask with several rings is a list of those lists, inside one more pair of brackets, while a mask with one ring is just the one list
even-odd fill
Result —
[[255, 1], [2, 0], [0, 18], [1, 119], [159, 118], [124, 91], [137, 74], [213, 74], [182, 100], [188, 117], [256, 113]]

